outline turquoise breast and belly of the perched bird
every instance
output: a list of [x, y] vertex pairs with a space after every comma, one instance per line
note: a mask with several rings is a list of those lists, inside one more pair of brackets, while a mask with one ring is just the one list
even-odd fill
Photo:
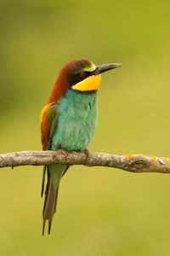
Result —
[[59, 100], [58, 124], [52, 139], [52, 150], [84, 150], [94, 137], [97, 125], [96, 93], [68, 90]]

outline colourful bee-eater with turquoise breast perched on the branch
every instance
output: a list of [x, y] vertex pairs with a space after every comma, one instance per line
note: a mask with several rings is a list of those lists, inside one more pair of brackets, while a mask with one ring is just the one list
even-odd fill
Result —
[[[42, 150], [88, 152], [89, 143], [97, 126], [97, 91], [101, 73], [105, 73], [120, 63], [95, 66], [88, 59], [69, 61], [59, 71], [51, 96], [42, 108], [41, 138]], [[56, 212], [59, 182], [69, 165], [51, 164], [43, 166], [42, 191], [47, 173], [45, 199], [42, 210], [42, 236], [48, 220], [48, 235]]]

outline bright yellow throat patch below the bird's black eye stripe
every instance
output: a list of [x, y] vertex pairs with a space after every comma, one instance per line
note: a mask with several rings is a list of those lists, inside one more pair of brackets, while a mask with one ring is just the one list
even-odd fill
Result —
[[100, 82], [101, 82], [100, 74], [97, 76], [90, 76], [87, 79], [84, 79], [81, 82], [73, 85], [72, 89], [81, 90], [81, 91], [98, 90]]

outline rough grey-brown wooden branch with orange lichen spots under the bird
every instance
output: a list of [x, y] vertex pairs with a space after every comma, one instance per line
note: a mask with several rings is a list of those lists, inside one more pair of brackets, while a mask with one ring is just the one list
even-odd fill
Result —
[[144, 154], [104, 154], [70, 152], [67, 157], [61, 151], [21, 151], [0, 154], [0, 167], [44, 166], [69, 164], [84, 166], [107, 166], [128, 172], [170, 172], [170, 159]]

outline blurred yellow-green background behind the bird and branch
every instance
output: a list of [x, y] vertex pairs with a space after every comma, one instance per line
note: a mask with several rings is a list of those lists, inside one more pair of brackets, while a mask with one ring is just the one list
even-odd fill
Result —
[[[90, 150], [170, 156], [170, 2], [0, 2], [0, 152], [41, 150], [39, 113], [59, 68], [122, 62], [102, 76]], [[170, 255], [170, 177], [71, 167], [42, 237], [42, 166], [1, 170], [1, 255]]]

